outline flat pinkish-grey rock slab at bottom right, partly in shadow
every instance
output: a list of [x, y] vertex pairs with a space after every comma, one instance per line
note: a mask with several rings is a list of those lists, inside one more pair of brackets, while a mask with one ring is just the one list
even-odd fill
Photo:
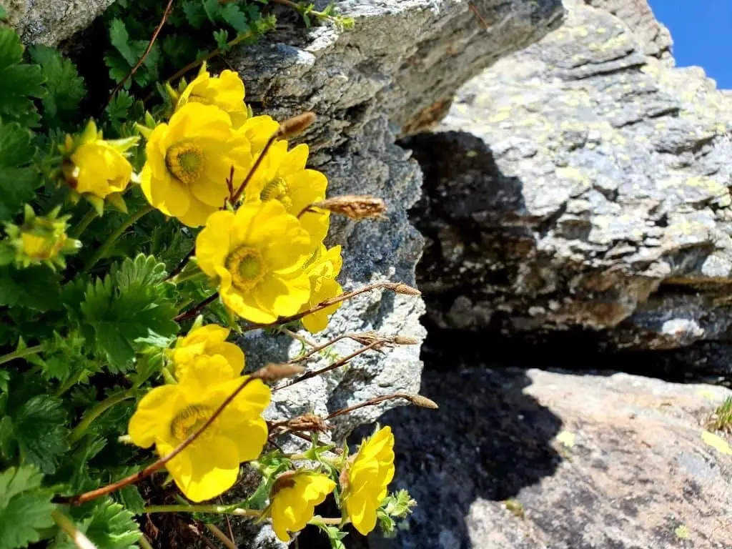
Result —
[[[486, 354], [479, 343], [476, 353]], [[423, 377], [438, 411], [383, 417], [395, 430], [394, 487], [418, 507], [371, 549], [731, 547], [732, 455], [701, 433], [732, 391], [450, 362]]]

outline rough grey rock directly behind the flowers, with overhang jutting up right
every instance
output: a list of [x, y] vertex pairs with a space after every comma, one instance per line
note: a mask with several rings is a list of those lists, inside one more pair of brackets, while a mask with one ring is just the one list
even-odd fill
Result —
[[[241, 73], [255, 112], [280, 120], [302, 111], [318, 114], [302, 141], [310, 146], [312, 165], [329, 177], [330, 195], [373, 194], [389, 204], [389, 220], [382, 223], [333, 220], [330, 241], [343, 244], [340, 280], [346, 288], [379, 280], [414, 283], [422, 238], [406, 212], [419, 198], [422, 173], [395, 145], [397, 133], [430, 124], [464, 81], [539, 40], [563, 13], [559, 0], [473, 5], [483, 22], [466, 1], [343, 1], [339, 10], [355, 19], [353, 30], [321, 27], [307, 37], [293, 34], [244, 48], [228, 60]], [[367, 294], [343, 306], [316, 339], [373, 329], [422, 340], [422, 313], [424, 305], [414, 296]], [[301, 348], [285, 336], [248, 337], [242, 345], [249, 367]], [[354, 348], [343, 343], [336, 351], [345, 356]], [[421, 370], [418, 346], [362, 356], [348, 369], [277, 392], [272, 414], [327, 414], [391, 392], [417, 392]], [[346, 436], [395, 404], [338, 417], [334, 435]]]

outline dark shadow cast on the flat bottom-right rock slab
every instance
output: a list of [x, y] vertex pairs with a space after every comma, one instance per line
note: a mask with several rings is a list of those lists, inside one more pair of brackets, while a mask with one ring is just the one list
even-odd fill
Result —
[[471, 548], [466, 518], [476, 501], [509, 500], [561, 462], [551, 444], [561, 420], [523, 393], [531, 384], [525, 371], [466, 367], [464, 350], [425, 357], [422, 394], [438, 411], [400, 408], [382, 418], [395, 432], [394, 488], [407, 488], [419, 505], [408, 535], [373, 539], [374, 549]]

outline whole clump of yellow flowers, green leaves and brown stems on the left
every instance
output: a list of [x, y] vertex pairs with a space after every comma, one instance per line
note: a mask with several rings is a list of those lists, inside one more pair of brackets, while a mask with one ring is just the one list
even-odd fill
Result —
[[[211, 15], [206, 0], [181, 9], [199, 4]], [[231, 23], [242, 3], [215, 4]], [[152, 41], [125, 42], [127, 56], [112, 39], [128, 65], [120, 82], [152, 51]], [[160, 81], [151, 67], [137, 84]], [[228, 515], [270, 521], [285, 542], [311, 524], [334, 548], [349, 523], [394, 531], [414, 501], [388, 491], [391, 430], [349, 455], [329, 442], [328, 420], [392, 398], [434, 403], [395, 393], [328, 417], [263, 417], [272, 392], [417, 343], [374, 332], [310, 343], [293, 332], [322, 332], [367, 291], [419, 294], [402, 283], [344, 292], [337, 281], [340, 246], [324, 244], [331, 215], [384, 217], [384, 202], [326, 198], [307, 145], [289, 143], [314, 115], [254, 116], [235, 72], [202, 63], [190, 83], [159, 87], [152, 106], [120, 90], [89, 119], [75, 65], [52, 48], [24, 51], [0, 28], [0, 549], [153, 547], [170, 524], [161, 515], [203, 524], [228, 546], [217, 526]], [[252, 330], [306, 348], [250, 372], [229, 339]], [[346, 338], [356, 351], [327, 354]], [[332, 362], [307, 370], [324, 353]], [[284, 437], [304, 451], [284, 452]], [[221, 503], [243, 471], [256, 488]], [[315, 514], [326, 498], [339, 516]]]

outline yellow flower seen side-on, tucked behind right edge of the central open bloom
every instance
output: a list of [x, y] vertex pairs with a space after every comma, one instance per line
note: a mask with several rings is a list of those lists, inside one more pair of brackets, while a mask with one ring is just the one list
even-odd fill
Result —
[[[343, 294], [343, 288], [335, 280], [340, 273], [341, 266], [343, 266], [343, 258], [340, 257], [340, 246], [326, 250], [325, 245], [321, 244], [310, 264], [305, 267], [307, 276], [310, 277], [310, 299], [301, 307], [301, 313], [326, 299]], [[319, 310], [317, 313], [310, 313], [302, 318], [302, 325], [311, 334], [321, 332], [328, 326], [329, 316], [335, 313], [340, 305], [337, 303]]]

